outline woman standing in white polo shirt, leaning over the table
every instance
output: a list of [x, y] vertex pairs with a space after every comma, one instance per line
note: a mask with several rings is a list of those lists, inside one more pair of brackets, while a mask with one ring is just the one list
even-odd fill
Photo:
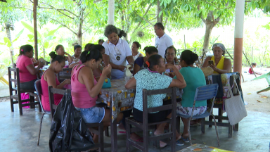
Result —
[[114, 25], [107, 25], [104, 35], [108, 37], [108, 41], [102, 44], [105, 48], [103, 61], [105, 65], [112, 65], [112, 79], [120, 79], [125, 76], [124, 70], [127, 62], [131, 67], [134, 64], [129, 44], [127, 44], [127, 41], [121, 39], [122, 36], [127, 34], [123, 30], [118, 30]]

